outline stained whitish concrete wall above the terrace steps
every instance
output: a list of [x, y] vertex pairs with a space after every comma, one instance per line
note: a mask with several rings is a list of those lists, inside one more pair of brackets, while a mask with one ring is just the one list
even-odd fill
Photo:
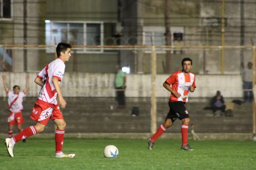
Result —
[[[30, 89], [27, 96], [36, 97], [40, 87], [34, 83], [37, 73], [4, 73], [0, 76], [7, 76], [8, 87], [19, 85], [25, 88], [26, 74], [30, 75]], [[163, 82], [169, 75], [158, 74], [156, 76], [156, 96], [169, 97], [170, 93], [163, 88]], [[61, 82], [62, 93], [65, 97], [114, 97], [115, 74], [100, 73], [65, 73]], [[242, 97], [242, 79], [240, 75], [196, 75], [197, 88], [190, 93], [190, 97], [212, 97], [217, 90], [220, 90], [225, 98]], [[149, 74], [129, 74], [127, 75], [127, 97], [150, 97], [151, 95], [151, 75]], [[0, 83], [0, 97], [5, 97], [6, 93], [3, 84]]]

